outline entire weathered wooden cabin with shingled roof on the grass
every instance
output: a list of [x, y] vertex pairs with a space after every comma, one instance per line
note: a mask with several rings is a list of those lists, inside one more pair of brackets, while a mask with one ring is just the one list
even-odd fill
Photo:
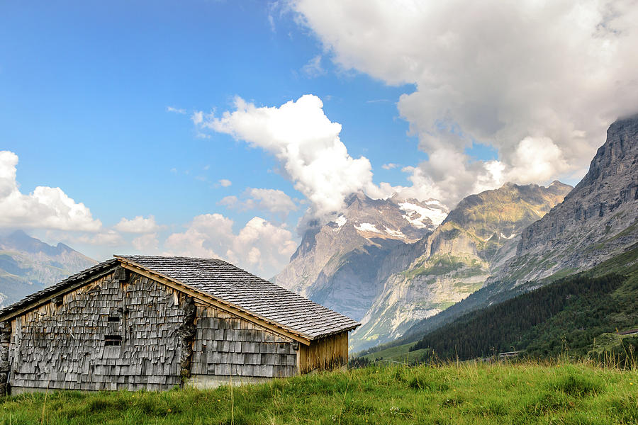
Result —
[[214, 387], [339, 368], [357, 326], [225, 261], [115, 256], [0, 310], [0, 392]]

